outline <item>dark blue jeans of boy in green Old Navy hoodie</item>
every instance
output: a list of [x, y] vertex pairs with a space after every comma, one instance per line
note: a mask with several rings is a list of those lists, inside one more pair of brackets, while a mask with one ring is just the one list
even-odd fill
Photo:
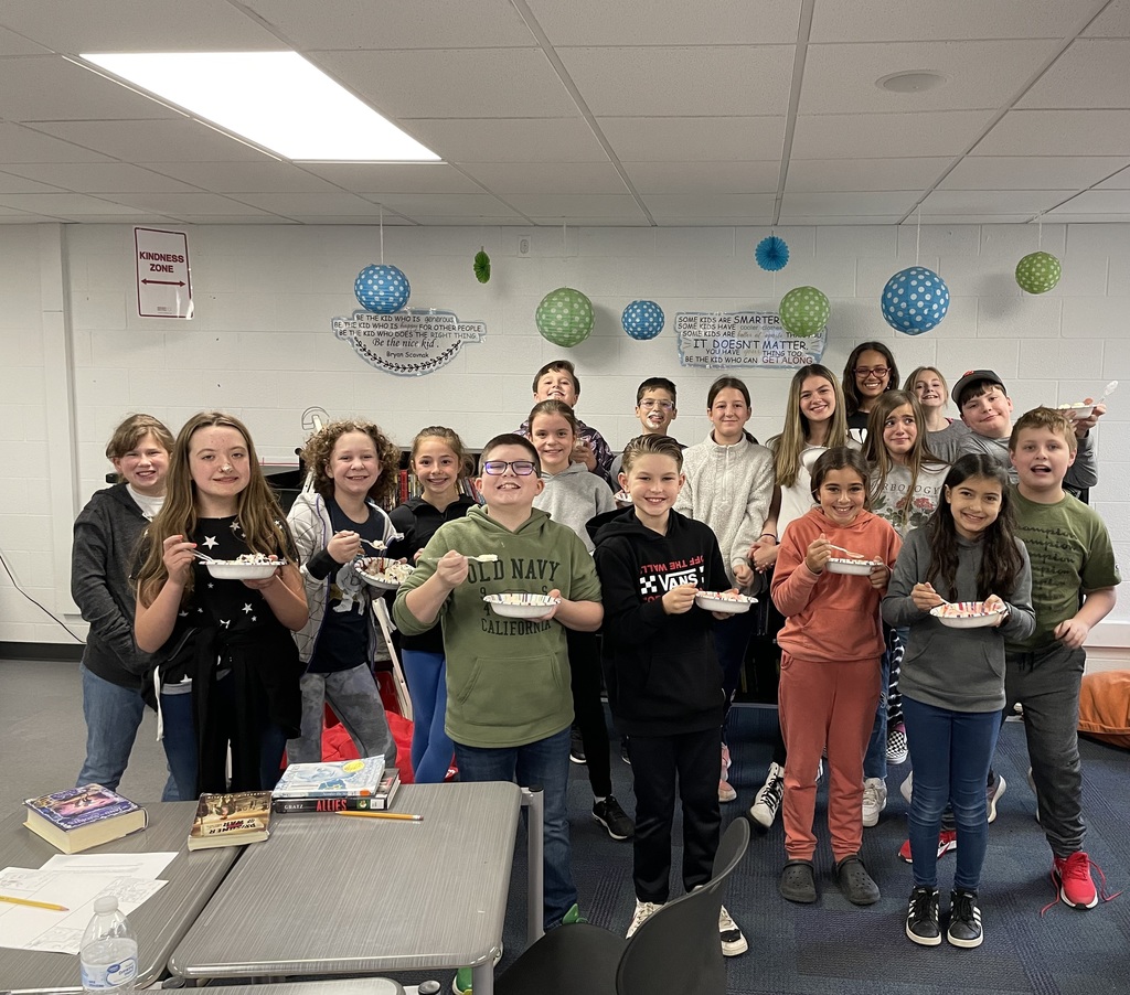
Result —
[[516, 782], [522, 787], [541, 786], [546, 803], [542, 872], [544, 918], [547, 929], [559, 926], [565, 913], [576, 905], [568, 813], [565, 806], [568, 742], [570, 731], [564, 728], [555, 735], [522, 747], [483, 749], [455, 743], [460, 780], [508, 780]]

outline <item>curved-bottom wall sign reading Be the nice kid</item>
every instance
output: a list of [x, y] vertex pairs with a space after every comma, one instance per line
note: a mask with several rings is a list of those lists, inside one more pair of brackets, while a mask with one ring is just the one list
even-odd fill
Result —
[[459, 355], [463, 342], [481, 342], [487, 333], [484, 322], [461, 322], [453, 312], [424, 308], [355, 311], [353, 317], [333, 318], [331, 326], [367, 364], [397, 376], [435, 373]]

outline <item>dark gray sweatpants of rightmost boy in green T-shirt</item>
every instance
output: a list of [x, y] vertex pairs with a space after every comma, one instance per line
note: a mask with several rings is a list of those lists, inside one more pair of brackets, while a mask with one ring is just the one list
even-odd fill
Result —
[[1083, 763], [1079, 760], [1079, 687], [1087, 654], [1054, 643], [1006, 654], [1005, 714], [1024, 706], [1024, 734], [1036, 784], [1040, 824], [1052, 853], [1083, 849]]

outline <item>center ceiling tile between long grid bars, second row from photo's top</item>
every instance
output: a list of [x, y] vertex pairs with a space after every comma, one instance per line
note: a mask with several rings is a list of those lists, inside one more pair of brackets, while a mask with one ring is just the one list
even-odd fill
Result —
[[[598, 116], [757, 115], [789, 110], [793, 62], [789, 45], [558, 49], [557, 54]], [[719, 80], [745, 79], [750, 85], [719, 86]]]

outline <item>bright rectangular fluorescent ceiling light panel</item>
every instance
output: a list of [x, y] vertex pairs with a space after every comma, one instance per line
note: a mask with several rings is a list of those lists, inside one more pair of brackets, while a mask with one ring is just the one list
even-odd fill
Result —
[[440, 160], [297, 52], [81, 58], [288, 159]]

